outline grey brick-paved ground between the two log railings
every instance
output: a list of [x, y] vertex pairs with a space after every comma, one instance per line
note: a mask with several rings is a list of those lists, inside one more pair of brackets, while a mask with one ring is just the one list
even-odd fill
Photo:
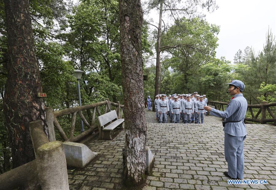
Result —
[[[147, 146], [155, 155], [151, 176], [144, 190], [163, 189], [276, 189], [276, 127], [246, 124], [244, 179], [266, 179], [263, 185], [229, 185], [223, 172], [224, 133], [221, 119], [205, 117], [205, 124], [158, 124], [155, 113], [145, 110]], [[88, 143], [99, 156], [85, 169], [68, 170], [70, 189], [125, 189], [122, 147], [124, 130], [115, 130], [114, 139]]]

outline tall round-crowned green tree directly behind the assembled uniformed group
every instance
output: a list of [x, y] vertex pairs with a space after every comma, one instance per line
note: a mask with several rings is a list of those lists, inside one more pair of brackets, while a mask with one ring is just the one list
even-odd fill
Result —
[[218, 32], [219, 27], [210, 25], [205, 20], [182, 18], [162, 36], [161, 50], [171, 54], [170, 58], [163, 61], [164, 65], [168, 65], [179, 75], [183, 74], [182, 78], [177, 77], [176, 86], [182, 87], [177, 89], [195, 90], [198, 77], [194, 80], [193, 76], [198, 73], [200, 65], [215, 56]]

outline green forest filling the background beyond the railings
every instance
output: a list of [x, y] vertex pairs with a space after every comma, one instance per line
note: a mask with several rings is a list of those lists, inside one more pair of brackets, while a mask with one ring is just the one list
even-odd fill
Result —
[[[174, 1], [162, 2], [167, 7], [175, 6]], [[245, 83], [243, 95], [248, 104], [276, 102], [276, 43], [269, 28], [263, 34], [266, 41], [261, 52], [255, 53], [250, 47], [237, 50], [231, 63], [224, 57], [216, 58], [220, 27], [208, 23], [197, 10], [200, 1], [175, 2], [184, 3], [186, 9], [164, 13], [171, 20], [167, 23], [162, 20], [160, 93], [197, 91], [209, 100], [226, 102], [231, 97], [226, 94], [228, 87], [224, 84], [238, 79]], [[155, 61], [152, 60], [157, 48], [157, 29], [149, 29], [152, 23], [147, 13], [151, 9], [159, 10], [159, 6], [160, 1], [151, 0], [144, 2], [143, 7], [142, 48], [144, 75], [148, 75], [144, 81], [145, 99], [148, 94], [154, 99]], [[105, 98], [123, 102], [116, 0], [81, 0], [77, 5], [62, 0], [30, 0], [30, 12], [47, 107], [56, 110], [78, 105], [75, 69], [85, 71], [80, 82], [83, 105]], [[0, 173], [10, 170], [12, 159], [2, 113], [8, 63], [5, 22], [4, 3], [0, 0]], [[60, 123], [69, 130], [67, 118]]]

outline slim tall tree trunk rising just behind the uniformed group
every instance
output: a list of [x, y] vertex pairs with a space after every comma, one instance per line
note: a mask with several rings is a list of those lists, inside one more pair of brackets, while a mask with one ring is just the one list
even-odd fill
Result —
[[155, 95], [161, 92], [161, 64], [160, 64], [160, 42], [161, 42], [161, 26], [162, 26], [163, 0], [160, 1], [159, 24], [157, 31], [157, 47], [156, 47], [156, 68], [155, 68]]

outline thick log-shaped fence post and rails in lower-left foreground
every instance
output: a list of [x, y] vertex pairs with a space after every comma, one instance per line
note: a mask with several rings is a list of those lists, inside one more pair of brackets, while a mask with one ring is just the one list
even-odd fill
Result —
[[61, 141], [49, 142], [41, 120], [29, 124], [36, 159], [0, 175], [0, 190], [69, 190], [65, 153]]

